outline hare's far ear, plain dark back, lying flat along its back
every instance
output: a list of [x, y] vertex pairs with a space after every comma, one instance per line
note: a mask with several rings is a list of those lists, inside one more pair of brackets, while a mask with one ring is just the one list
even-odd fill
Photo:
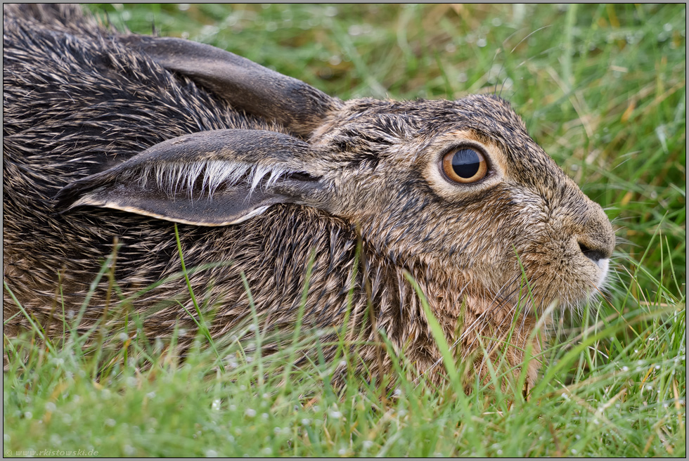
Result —
[[342, 101], [300, 80], [215, 48], [172, 37], [120, 37], [172, 72], [179, 72], [226, 98], [233, 106], [308, 137]]

